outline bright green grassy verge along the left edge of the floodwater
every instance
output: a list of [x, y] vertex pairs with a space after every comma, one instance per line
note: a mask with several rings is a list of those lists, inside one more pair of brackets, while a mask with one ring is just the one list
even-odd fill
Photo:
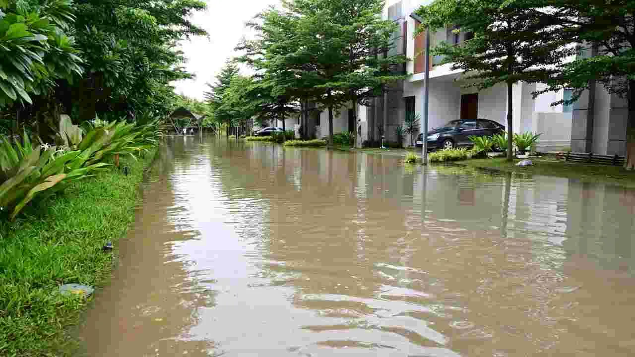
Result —
[[0, 355], [59, 356], [72, 341], [86, 301], [57, 293], [58, 285], [100, 285], [112, 267], [106, 241], [117, 241], [134, 219], [138, 185], [153, 154], [122, 160], [33, 205], [16, 222], [0, 221]]

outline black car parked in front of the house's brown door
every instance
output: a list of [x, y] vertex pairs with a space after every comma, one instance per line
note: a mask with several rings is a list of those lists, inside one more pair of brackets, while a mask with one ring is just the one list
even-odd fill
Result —
[[[428, 149], [452, 149], [453, 147], [472, 146], [469, 137], [491, 137], [504, 133], [505, 126], [488, 119], [453, 120], [440, 128], [428, 132]], [[422, 146], [423, 133], [419, 134], [415, 145]]]

